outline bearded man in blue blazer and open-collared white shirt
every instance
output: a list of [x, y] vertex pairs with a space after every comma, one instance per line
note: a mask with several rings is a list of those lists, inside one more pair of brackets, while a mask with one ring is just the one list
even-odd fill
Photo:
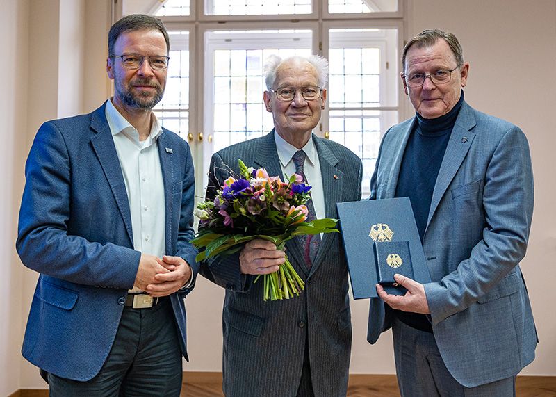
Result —
[[51, 396], [179, 396], [198, 267], [190, 149], [152, 112], [169, 48], [158, 19], [116, 22], [114, 97], [44, 123], [31, 147], [17, 252], [40, 276], [22, 353]]

